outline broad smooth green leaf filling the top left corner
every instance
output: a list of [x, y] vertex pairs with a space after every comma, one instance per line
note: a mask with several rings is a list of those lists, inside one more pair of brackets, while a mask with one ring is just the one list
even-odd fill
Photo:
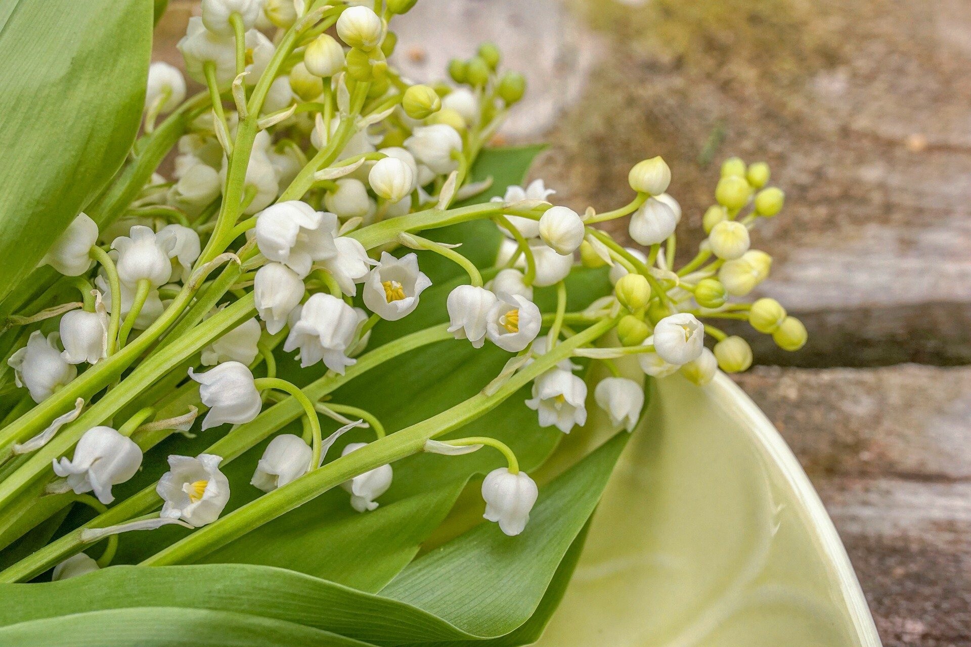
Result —
[[144, 0], [0, 3], [0, 301], [124, 160], [151, 24]]

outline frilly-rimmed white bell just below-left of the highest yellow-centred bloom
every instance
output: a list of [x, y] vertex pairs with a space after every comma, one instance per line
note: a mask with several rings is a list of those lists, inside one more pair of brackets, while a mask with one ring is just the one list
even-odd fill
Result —
[[348, 351], [364, 318], [360, 310], [343, 300], [318, 292], [301, 307], [300, 318], [290, 326], [284, 350], [299, 348], [301, 367], [323, 360], [324, 366], [343, 375], [356, 362], [348, 357]]

